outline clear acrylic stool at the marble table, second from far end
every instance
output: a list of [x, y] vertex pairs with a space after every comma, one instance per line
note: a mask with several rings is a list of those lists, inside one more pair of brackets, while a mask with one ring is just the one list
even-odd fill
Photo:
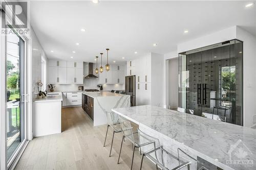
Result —
[[132, 170], [133, 169], [134, 152], [135, 152], [136, 148], [140, 148], [145, 145], [152, 144], [152, 143], [154, 143], [155, 148], [158, 148], [159, 145], [156, 145], [157, 143], [156, 143], [155, 138], [148, 137], [148, 138], [143, 138], [143, 140], [142, 140], [142, 138], [140, 137], [140, 134], [142, 132], [139, 129], [137, 132], [133, 132], [131, 123], [126, 120], [123, 120], [122, 118], [120, 118], [120, 125], [121, 125], [121, 129], [122, 129], [122, 133], [123, 133], [123, 138], [122, 138], [122, 142], [121, 142], [121, 147], [120, 147], [120, 152], [119, 152], [119, 157], [118, 157], [117, 163], [119, 164], [123, 141], [124, 141], [124, 138], [126, 138], [133, 144], [133, 157], [132, 157], [132, 165], [131, 165], [131, 170]]

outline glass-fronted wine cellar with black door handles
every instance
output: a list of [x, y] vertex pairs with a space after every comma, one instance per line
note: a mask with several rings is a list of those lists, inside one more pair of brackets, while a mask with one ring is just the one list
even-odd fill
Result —
[[179, 54], [179, 107], [243, 125], [243, 42], [225, 41]]

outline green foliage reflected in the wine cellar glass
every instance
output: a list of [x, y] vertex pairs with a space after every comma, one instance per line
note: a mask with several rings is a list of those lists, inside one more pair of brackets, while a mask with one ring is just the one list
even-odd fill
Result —
[[222, 72], [222, 88], [223, 90], [236, 90], [236, 72]]

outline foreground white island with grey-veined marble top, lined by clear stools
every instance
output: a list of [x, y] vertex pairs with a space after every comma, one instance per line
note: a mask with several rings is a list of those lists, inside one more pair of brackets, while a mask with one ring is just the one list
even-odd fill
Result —
[[[156, 106], [116, 108], [177, 156], [180, 148], [196, 160], [190, 169], [256, 169], [256, 130]], [[168, 161], [167, 167], [174, 167]], [[178, 162], [176, 162], [177, 165]]]

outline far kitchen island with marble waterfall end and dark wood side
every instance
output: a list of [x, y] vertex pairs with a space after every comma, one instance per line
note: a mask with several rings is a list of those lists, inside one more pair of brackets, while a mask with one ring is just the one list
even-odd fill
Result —
[[82, 109], [92, 118], [93, 126], [106, 124], [104, 110], [130, 107], [131, 96], [109, 91], [82, 92]]

